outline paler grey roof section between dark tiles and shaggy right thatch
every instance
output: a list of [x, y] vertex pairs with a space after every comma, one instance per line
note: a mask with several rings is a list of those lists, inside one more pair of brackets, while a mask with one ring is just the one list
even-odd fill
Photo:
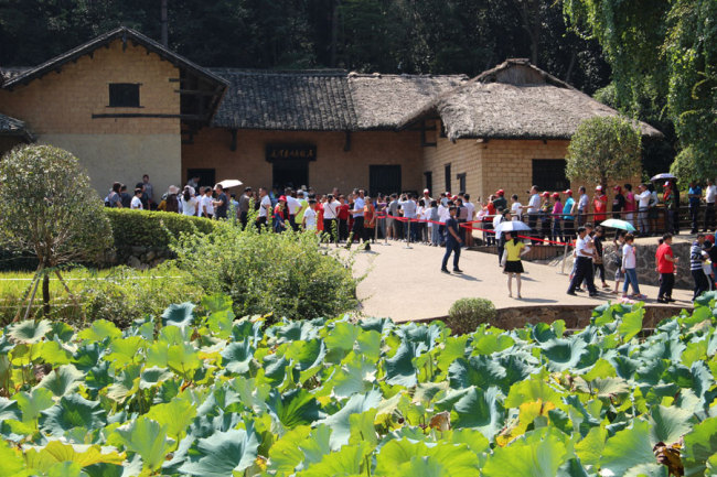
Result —
[[358, 129], [395, 129], [409, 108], [425, 105], [468, 79], [465, 75], [349, 74]]

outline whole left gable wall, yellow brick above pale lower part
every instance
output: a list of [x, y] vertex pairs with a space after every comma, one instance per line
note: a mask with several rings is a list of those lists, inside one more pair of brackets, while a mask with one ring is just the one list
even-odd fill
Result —
[[[149, 174], [156, 198], [181, 180], [179, 118], [95, 118], [98, 113], [179, 115], [174, 93], [179, 69], [147, 54], [141, 46], [116, 40], [56, 73], [0, 90], [0, 111], [25, 121], [39, 143], [75, 154], [93, 186], [104, 197], [114, 181], [128, 188]], [[110, 83], [140, 83], [140, 108], [110, 108]]]

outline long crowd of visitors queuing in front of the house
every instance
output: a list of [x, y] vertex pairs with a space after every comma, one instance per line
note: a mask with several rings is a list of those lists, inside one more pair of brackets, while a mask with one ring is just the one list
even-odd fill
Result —
[[[248, 225], [249, 217], [255, 217], [259, 230], [315, 230], [323, 241], [345, 245], [346, 248], [362, 242], [362, 247], [370, 250], [371, 242], [376, 239], [445, 247], [440, 268], [443, 273], [451, 273], [448, 270], [451, 256], [452, 272], [462, 273], [459, 267], [461, 249], [473, 245], [473, 234], [479, 230], [483, 234], [484, 245], [497, 247], [499, 261], [509, 278], [509, 295], [513, 296], [512, 282], [515, 279], [517, 297], [521, 297], [521, 274], [524, 272], [521, 258], [529, 251], [531, 245], [541, 243], [574, 245], [575, 262], [568, 294], [587, 291], [590, 296], [598, 295], [596, 278], [601, 281], [602, 290], [612, 289], [607, 283], [604, 269], [604, 260], [608, 260], [603, 243], [606, 230], [599, 225], [593, 227], [589, 221], [591, 219], [599, 224], [611, 216], [632, 224], [636, 231], [614, 236], [610, 260], [617, 272], [610, 293], [622, 299], [644, 300], [645, 295], [641, 294], [638, 283], [634, 238], [655, 235], [657, 204], [662, 202], [667, 232], [660, 239], [655, 258], [655, 271], [660, 273], [661, 283], [657, 301], [674, 301], [672, 288], [677, 259], [672, 252], [672, 237], [679, 234], [681, 202], [673, 181], [663, 184], [662, 200], [653, 184], [640, 184], [636, 192], [633, 192], [631, 184], [616, 185], [611, 207], [601, 185], [596, 186], [592, 197], [588, 196], [585, 186], [579, 187], [576, 198], [571, 189], [550, 193], [541, 192], [537, 186], [533, 186], [527, 194], [526, 205], [520, 202], [517, 194], [511, 196], [509, 204], [503, 189], [478, 204], [472, 203], [471, 196], [465, 193], [452, 195], [445, 192], [434, 198], [429, 189], [424, 189], [421, 195], [393, 193], [371, 196], [362, 188], [347, 194], [334, 188], [330, 194], [321, 194], [306, 186], [296, 189], [287, 187], [282, 192], [276, 187], [259, 187], [256, 192], [245, 187], [237, 197], [234, 193], [227, 194], [221, 184], [200, 187], [199, 177], [192, 177], [182, 189], [170, 186], [156, 203], [153, 186], [149, 176], [145, 175], [142, 182], [137, 183], [132, 196], [128, 194], [126, 185], [113, 184], [105, 204], [108, 207], [159, 209], [215, 219], [236, 217], [244, 227]], [[688, 205], [693, 234], [698, 234], [700, 221], [705, 232], [715, 230], [716, 198], [714, 181], [707, 181], [704, 197], [702, 187], [691, 183]], [[705, 213], [700, 217], [703, 202]], [[254, 215], [252, 210], [255, 210]], [[499, 226], [506, 220], [525, 221], [531, 228], [525, 232], [528, 236], [514, 231], [501, 234]], [[692, 246], [691, 271], [695, 281], [695, 297], [715, 286], [717, 246], [713, 246], [714, 240], [714, 236], [698, 234]], [[630, 289], [632, 294], [628, 293]]]

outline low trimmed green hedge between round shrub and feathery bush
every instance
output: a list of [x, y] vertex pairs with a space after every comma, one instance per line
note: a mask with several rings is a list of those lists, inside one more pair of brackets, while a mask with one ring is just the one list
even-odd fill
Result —
[[113, 226], [115, 248], [118, 251], [128, 247], [169, 248], [170, 236], [179, 238], [180, 232], [210, 234], [216, 221], [170, 212], [131, 210], [106, 208]]

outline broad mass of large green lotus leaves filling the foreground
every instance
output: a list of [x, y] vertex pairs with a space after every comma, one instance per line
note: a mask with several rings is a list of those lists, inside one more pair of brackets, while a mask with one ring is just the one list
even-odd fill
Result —
[[590, 325], [234, 319], [223, 296], [126, 330], [0, 335], [2, 476], [714, 475], [715, 294], [644, 340]]

